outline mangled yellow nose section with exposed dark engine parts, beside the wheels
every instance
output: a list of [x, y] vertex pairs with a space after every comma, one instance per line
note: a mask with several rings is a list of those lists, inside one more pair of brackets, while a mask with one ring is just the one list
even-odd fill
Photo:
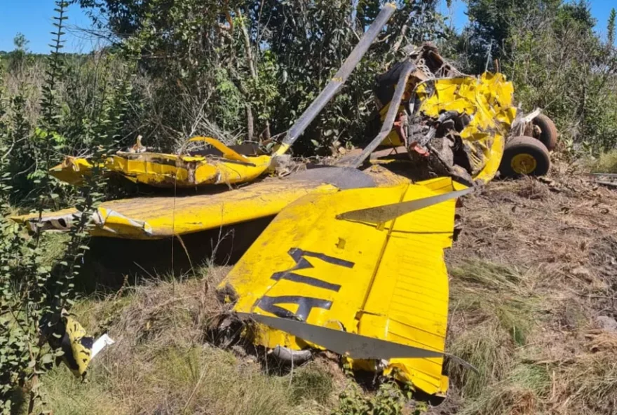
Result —
[[[412, 50], [409, 60], [415, 70], [393, 130], [381, 144], [405, 146], [416, 179], [448, 175], [468, 185], [488, 182], [499, 168], [516, 116], [512, 84], [501, 74], [461, 74], [430, 44]], [[374, 97], [380, 116], [367, 135], [381, 125], [402, 64], [377, 76]]]

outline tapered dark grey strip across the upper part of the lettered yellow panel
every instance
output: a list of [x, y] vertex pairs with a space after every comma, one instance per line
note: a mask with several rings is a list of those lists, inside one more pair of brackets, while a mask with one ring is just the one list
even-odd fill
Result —
[[445, 202], [446, 200], [465, 196], [472, 191], [473, 187], [470, 187], [469, 189], [452, 191], [449, 193], [440, 194], [438, 196], [430, 196], [428, 198], [409, 200], [407, 202], [400, 203], [392, 203], [391, 205], [367, 207], [366, 209], [360, 210], [351, 210], [350, 212], [344, 212], [340, 215], [337, 215], [337, 219], [381, 224], [384, 222], [388, 222], [392, 219], [396, 219], [397, 217], [400, 217], [407, 213], [414, 212], [415, 210], [420, 210], [424, 207], [437, 205], [438, 203]]

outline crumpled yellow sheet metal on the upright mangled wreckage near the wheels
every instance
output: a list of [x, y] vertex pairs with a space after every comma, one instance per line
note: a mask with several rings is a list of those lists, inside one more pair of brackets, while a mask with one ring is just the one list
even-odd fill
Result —
[[496, 175], [506, 136], [516, 116], [514, 88], [502, 74], [484, 73], [479, 78], [436, 79], [421, 83], [417, 94], [421, 114], [438, 118], [445, 111], [470, 116], [461, 131], [467, 147], [473, 179], [487, 183]]

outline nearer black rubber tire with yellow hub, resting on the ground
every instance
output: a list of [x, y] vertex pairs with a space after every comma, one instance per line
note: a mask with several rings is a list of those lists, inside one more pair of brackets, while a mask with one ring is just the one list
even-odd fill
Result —
[[[520, 157], [527, 156], [533, 158], [534, 163], [529, 171], [517, 171], [517, 161]], [[528, 164], [529, 165], [529, 164]], [[503, 151], [499, 172], [502, 177], [520, 177], [523, 175], [543, 176], [550, 169], [550, 154], [548, 149], [534, 137], [513, 137], [506, 142], [506, 149]]]

